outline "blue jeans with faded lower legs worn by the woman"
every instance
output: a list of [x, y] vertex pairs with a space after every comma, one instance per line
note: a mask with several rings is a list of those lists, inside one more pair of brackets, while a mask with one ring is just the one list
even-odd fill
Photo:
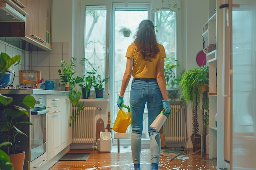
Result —
[[150, 127], [163, 109], [162, 94], [157, 80], [135, 78], [130, 93], [130, 112], [132, 118], [131, 149], [133, 163], [140, 163], [141, 135], [145, 105], [148, 108], [148, 135], [150, 138], [151, 163], [159, 163], [161, 140], [159, 132]]

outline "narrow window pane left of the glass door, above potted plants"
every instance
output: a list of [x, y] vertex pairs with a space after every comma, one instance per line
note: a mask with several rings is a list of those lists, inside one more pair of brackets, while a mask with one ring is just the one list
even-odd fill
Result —
[[94, 68], [99, 68], [97, 73], [103, 78], [106, 77], [106, 12], [106, 6], [85, 7], [84, 57]]

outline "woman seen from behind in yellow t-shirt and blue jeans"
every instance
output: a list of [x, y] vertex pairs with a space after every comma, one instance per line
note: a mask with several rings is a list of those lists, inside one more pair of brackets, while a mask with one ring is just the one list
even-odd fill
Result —
[[126, 70], [121, 91], [117, 100], [120, 108], [124, 103], [124, 92], [133, 77], [130, 93], [130, 112], [132, 119], [131, 148], [134, 169], [140, 170], [141, 135], [144, 108], [148, 108], [148, 135], [150, 137], [151, 170], [158, 170], [161, 140], [159, 132], [150, 127], [157, 115], [164, 108], [169, 113], [171, 108], [166, 91], [164, 77], [164, 46], [156, 40], [154, 24], [143, 20], [135, 41], [126, 52]]

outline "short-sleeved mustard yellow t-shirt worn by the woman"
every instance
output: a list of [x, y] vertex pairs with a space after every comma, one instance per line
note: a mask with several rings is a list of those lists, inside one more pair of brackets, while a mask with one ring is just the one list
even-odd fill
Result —
[[157, 76], [157, 62], [159, 59], [166, 58], [164, 46], [158, 44], [158, 47], [160, 49], [159, 53], [157, 53], [156, 58], [153, 58], [152, 62], [149, 62], [143, 60], [143, 57], [139, 55], [134, 43], [128, 46], [126, 57], [133, 60], [132, 77], [155, 78]]

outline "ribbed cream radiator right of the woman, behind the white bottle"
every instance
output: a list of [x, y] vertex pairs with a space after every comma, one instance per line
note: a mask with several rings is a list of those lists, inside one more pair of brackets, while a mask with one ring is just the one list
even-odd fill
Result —
[[183, 117], [179, 104], [171, 105], [171, 114], [163, 125], [165, 141], [183, 141]]

